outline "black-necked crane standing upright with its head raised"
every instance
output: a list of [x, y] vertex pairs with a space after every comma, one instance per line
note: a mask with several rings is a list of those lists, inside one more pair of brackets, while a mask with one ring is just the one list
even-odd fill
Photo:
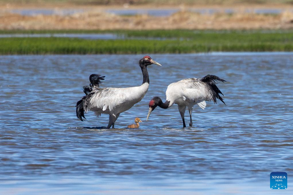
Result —
[[107, 129], [114, 128], [114, 123], [120, 113], [130, 109], [134, 104], [142, 100], [149, 89], [149, 73], [147, 66], [158, 62], [151, 59], [149, 56], [144, 56], [139, 60], [139, 66], [142, 69], [143, 81], [142, 85], [137, 87], [127, 88], [100, 88], [105, 76], [92, 74], [89, 78], [90, 87], [84, 86], [86, 94], [81, 100], [76, 103], [76, 116], [83, 121], [84, 112], [93, 111], [96, 116], [101, 114], [109, 114], [109, 123]]

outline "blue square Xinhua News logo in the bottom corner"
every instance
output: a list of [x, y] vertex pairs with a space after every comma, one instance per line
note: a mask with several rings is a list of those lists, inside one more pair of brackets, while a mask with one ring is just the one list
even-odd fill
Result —
[[287, 189], [287, 173], [271, 172], [270, 174], [271, 189]]

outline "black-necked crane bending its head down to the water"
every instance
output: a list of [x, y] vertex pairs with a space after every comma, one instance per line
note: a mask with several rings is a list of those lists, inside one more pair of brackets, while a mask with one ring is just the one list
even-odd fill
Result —
[[186, 127], [184, 120], [186, 107], [188, 107], [190, 115], [189, 126], [192, 126], [191, 114], [195, 104], [199, 105], [203, 110], [207, 105], [205, 101], [213, 100], [214, 103], [217, 103], [217, 99], [219, 99], [225, 104], [223, 98], [219, 95], [223, 95], [223, 93], [216, 85], [219, 82], [226, 81], [214, 75], [207, 75], [203, 78], [187, 78], [176, 83], [171, 83], [166, 90], [165, 103], [159, 97], [154, 97], [149, 101], [147, 120], [157, 106], [167, 109], [173, 104], [177, 104], [183, 121], [183, 127]]

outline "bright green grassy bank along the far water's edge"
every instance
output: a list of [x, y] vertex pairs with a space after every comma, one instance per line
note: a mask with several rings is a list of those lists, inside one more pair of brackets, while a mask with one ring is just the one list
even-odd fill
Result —
[[[212, 51], [293, 51], [292, 31], [99, 31], [99, 33], [105, 32], [124, 35], [126, 39], [84, 40], [63, 37], [0, 38], [0, 54], [144, 54]], [[1, 33], [4, 33], [4, 31]], [[51, 31], [50, 33], [61, 32]], [[63, 30], [62, 33], [86, 33], [86, 31], [65, 32]], [[98, 31], [89, 31], [88, 33], [98, 33]], [[127, 39], [127, 37], [132, 37], [132, 39]], [[163, 39], [151, 40], [140, 39], [139, 37]]]

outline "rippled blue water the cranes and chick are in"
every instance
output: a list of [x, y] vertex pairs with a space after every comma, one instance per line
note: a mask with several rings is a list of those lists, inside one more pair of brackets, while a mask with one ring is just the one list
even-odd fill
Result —
[[[275, 194], [278, 171], [292, 194], [293, 53], [151, 54], [163, 66], [149, 66], [149, 91], [119, 129], [96, 128], [107, 115], [76, 119], [91, 73], [105, 87], [140, 85], [142, 56], [1, 56], [1, 194]], [[227, 106], [195, 106], [184, 129], [176, 105], [146, 121], [168, 84], [207, 74], [228, 81]], [[141, 127], [124, 129], [135, 117]]]

